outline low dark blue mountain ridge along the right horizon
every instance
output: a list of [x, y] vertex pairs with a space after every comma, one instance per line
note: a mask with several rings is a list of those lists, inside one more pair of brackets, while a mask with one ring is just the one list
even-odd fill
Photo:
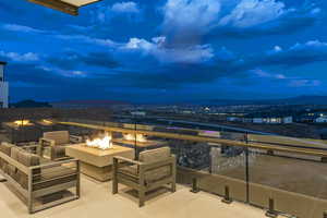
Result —
[[327, 96], [298, 96], [281, 99], [237, 100], [209, 99], [190, 102], [192, 105], [233, 106], [233, 105], [327, 105]]

